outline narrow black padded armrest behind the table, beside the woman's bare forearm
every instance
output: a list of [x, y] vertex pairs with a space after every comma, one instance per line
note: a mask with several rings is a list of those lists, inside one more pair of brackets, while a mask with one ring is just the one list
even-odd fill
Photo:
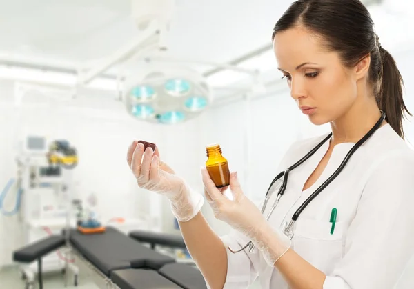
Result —
[[175, 248], [186, 248], [186, 243], [181, 235], [172, 235], [161, 232], [132, 231], [129, 236], [137, 241], [164, 245]]

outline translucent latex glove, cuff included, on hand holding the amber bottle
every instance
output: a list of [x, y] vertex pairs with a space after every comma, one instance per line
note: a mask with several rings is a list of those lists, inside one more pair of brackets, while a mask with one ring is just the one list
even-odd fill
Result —
[[[257, 249], [262, 252], [266, 263], [273, 267], [275, 262], [290, 248], [290, 238], [273, 228], [259, 208], [244, 195], [237, 179], [237, 172], [232, 172], [230, 175], [233, 200], [223, 195], [225, 188], [224, 190], [216, 188], [205, 168], [201, 169], [201, 175], [206, 199], [215, 217], [250, 238]], [[239, 250], [240, 248], [232, 249]]]

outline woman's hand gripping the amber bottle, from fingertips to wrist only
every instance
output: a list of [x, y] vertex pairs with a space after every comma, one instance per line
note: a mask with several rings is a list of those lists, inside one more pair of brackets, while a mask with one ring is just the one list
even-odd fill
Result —
[[[259, 208], [244, 195], [237, 179], [237, 172], [230, 174], [230, 191], [233, 200], [223, 195], [227, 187], [220, 190], [216, 188], [206, 168], [201, 169], [201, 175], [204, 183], [204, 194], [217, 219], [228, 223], [232, 228], [239, 230], [250, 238], [254, 238], [259, 233], [257, 230], [261, 230], [266, 226], [266, 219], [264, 219]], [[264, 226], [261, 226], [262, 224]]]

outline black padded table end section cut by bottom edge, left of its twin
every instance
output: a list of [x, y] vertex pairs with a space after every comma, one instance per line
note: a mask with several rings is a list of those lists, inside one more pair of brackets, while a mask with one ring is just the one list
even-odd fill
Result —
[[115, 270], [112, 271], [110, 279], [121, 289], [181, 289], [153, 270]]

